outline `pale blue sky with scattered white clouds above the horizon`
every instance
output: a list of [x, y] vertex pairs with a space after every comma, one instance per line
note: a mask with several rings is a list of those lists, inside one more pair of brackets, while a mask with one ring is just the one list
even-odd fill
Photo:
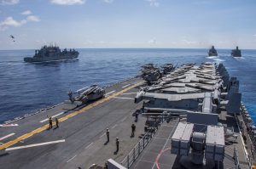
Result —
[[0, 0], [0, 50], [256, 49], [255, 18], [255, 0]]

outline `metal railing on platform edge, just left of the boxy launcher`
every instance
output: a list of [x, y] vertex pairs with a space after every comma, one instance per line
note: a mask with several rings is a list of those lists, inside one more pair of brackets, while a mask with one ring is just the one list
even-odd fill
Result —
[[137, 160], [138, 156], [143, 152], [143, 149], [146, 148], [149, 141], [153, 138], [155, 132], [160, 127], [160, 124], [163, 122], [162, 119], [155, 121], [151, 127], [148, 127], [148, 131], [143, 135], [143, 138], [135, 145], [131, 152], [125, 157], [121, 162], [122, 166], [130, 168], [131, 165]]

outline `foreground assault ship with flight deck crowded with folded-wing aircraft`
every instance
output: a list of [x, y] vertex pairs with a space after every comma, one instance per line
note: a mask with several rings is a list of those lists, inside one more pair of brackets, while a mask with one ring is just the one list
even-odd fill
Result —
[[[81, 91], [95, 89], [102, 91]], [[141, 76], [104, 92], [94, 102], [67, 100], [6, 121], [0, 128], [0, 168], [238, 169], [255, 164], [256, 127], [241, 103], [238, 79], [222, 64], [145, 65]], [[57, 117], [59, 127], [53, 122], [49, 128], [47, 116]]]

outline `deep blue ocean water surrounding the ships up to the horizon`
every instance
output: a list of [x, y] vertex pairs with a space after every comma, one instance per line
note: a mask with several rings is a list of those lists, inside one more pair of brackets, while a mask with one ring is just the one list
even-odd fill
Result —
[[137, 76], [140, 66], [172, 63], [223, 63], [240, 80], [242, 101], [256, 121], [256, 50], [242, 50], [235, 59], [230, 50], [207, 57], [207, 49], [78, 49], [79, 60], [28, 64], [33, 50], [0, 51], [0, 123], [67, 100], [69, 90], [92, 84], [107, 86]]

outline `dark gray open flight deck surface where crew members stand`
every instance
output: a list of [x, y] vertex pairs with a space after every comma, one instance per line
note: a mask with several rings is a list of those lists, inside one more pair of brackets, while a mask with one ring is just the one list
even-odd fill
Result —
[[[107, 87], [106, 93], [110, 93], [110, 99], [106, 96], [104, 102], [94, 104], [92, 107], [88, 105], [90, 109], [87, 109], [86, 107], [88, 106], [85, 106], [85, 110], [83, 110], [84, 108], [72, 110], [75, 108], [75, 105], [61, 104], [55, 108], [42, 111], [37, 115], [15, 121], [14, 123], [19, 125], [17, 127], [1, 127], [0, 138], [4, 138], [10, 133], [15, 133], [15, 135], [1, 140], [0, 142], [3, 145], [9, 144], [12, 140], [18, 140], [18, 143], [7, 147], [7, 151], [0, 155], [0, 168], [49, 169], [78, 168], [79, 166], [81, 168], [88, 168], [93, 163], [103, 165], [109, 158], [113, 158], [113, 160], [118, 162], [123, 161], [125, 155], [137, 144], [140, 134], [144, 133], [145, 118], [140, 116], [138, 122], [135, 122], [132, 116], [132, 113], [142, 107], [142, 104], [134, 104], [133, 100], [138, 88], [131, 88], [116, 97], [113, 97], [113, 94], [132, 87], [132, 85], [139, 82], [142, 82], [142, 80], [134, 78]], [[48, 124], [47, 120], [40, 122], [47, 119], [46, 115], [53, 116], [64, 112], [57, 116], [61, 120], [61, 117], [73, 114], [76, 111], [82, 112], [68, 117], [65, 121], [61, 121], [59, 128], [55, 128], [54, 125], [53, 129], [50, 130], [43, 129], [38, 133], [34, 131]], [[134, 138], [130, 137], [132, 123], [135, 123], [137, 126]], [[104, 145], [107, 141], [105, 134], [107, 128], [110, 130], [110, 142]], [[26, 133], [32, 133], [32, 136], [24, 140], [19, 138]], [[116, 150], [115, 138], [119, 138], [119, 152], [117, 155], [113, 154]], [[57, 142], [44, 144], [54, 141]], [[32, 144], [44, 145], [23, 149], [9, 149]]]

